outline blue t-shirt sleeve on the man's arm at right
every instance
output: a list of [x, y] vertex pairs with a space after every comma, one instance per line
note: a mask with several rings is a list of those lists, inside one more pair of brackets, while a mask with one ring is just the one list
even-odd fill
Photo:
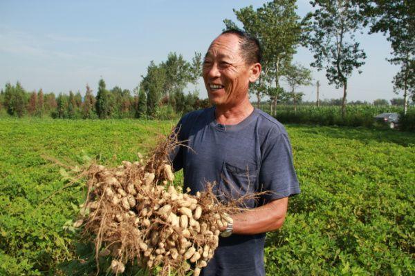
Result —
[[259, 171], [259, 186], [267, 193], [264, 204], [300, 192], [293, 164], [293, 153], [286, 132], [269, 135]]

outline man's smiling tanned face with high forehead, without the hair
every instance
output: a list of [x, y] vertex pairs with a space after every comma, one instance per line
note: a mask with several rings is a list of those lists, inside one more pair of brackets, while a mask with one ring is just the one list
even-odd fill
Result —
[[210, 44], [203, 80], [209, 100], [216, 106], [236, 106], [247, 97], [252, 68], [241, 55], [239, 37], [222, 34]]

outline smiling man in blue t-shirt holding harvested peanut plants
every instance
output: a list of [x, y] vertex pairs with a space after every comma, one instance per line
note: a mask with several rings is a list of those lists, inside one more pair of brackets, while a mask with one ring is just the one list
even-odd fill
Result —
[[[191, 193], [216, 181], [223, 200], [268, 192], [246, 202], [221, 229], [214, 257], [202, 275], [265, 275], [265, 233], [280, 228], [288, 197], [299, 193], [291, 145], [282, 124], [249, 101], [249, 84], [261, 73], [257, 39], [230, 30], [214, 39], [203, 62], [203, 79], [212, 108], [185, 115], [178, 137], [187, 141], [172, 155], [174, 170], [184, 170]], [[232, 234], [232, 235], [231, 235]]]

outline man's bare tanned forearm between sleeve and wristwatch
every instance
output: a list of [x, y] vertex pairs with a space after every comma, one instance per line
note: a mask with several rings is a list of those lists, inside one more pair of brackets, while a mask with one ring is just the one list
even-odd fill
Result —
[[[234, 234], [254, 235], [281, 228], [287, 213], [288, 197], [232, 215]], [[225, 226], [226, 227], [226, 226]], [[225, 230], [220, 229], [221, 231]]]

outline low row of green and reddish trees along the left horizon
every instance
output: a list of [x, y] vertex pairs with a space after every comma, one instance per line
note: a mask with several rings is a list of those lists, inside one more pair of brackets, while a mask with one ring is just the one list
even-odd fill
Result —
[[[150, 99], [149, 101], [147, 101]], [[151, 106], [151, 95], [147, 97], [144, 89], [130, 90], [118, 86], [107, 90], [105, 81], [100, 79], [96, 97], [86, 85], [84, 96], [78, 91], [68, 94], [43, 90], [27, 92], [19, 82], [16, 85], [6, 83], [0, 91], [0, 111], [8, 115], [23, 117], [53, 117], [60, 119], [122, 119], [122, 118], [160, 118], [176, 117], [177, 114], [205, 108], [208, 99], [199, 99], [196, 92], [185, 95], [176, 92], [173, 97], [164, 96]]]

